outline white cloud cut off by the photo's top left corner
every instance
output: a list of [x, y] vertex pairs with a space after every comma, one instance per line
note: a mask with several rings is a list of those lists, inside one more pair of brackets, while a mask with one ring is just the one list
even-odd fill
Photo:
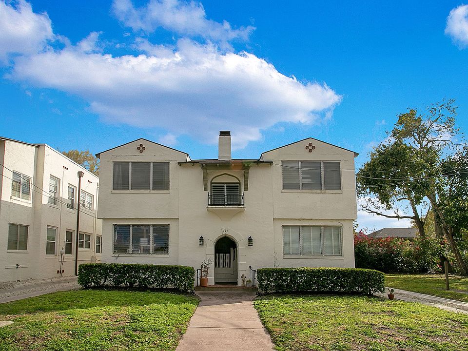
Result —
[[14, 5], [0, 1], [0, 63], [5, 64], [11, 54], [35, 54], [52, 39], [46, 13], [34, 13], [31, 4], [23, 0]]

